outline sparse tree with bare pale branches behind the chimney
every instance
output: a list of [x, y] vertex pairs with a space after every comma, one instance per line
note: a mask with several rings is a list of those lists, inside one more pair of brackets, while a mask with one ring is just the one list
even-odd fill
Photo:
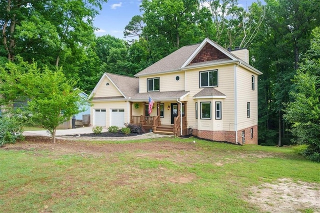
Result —
[[212, 40], [224, 47], [248, 47], [260, 30], [265, 8], [253, 2], [246, 11], [237, 0], [201, 0], [213, 20]]

